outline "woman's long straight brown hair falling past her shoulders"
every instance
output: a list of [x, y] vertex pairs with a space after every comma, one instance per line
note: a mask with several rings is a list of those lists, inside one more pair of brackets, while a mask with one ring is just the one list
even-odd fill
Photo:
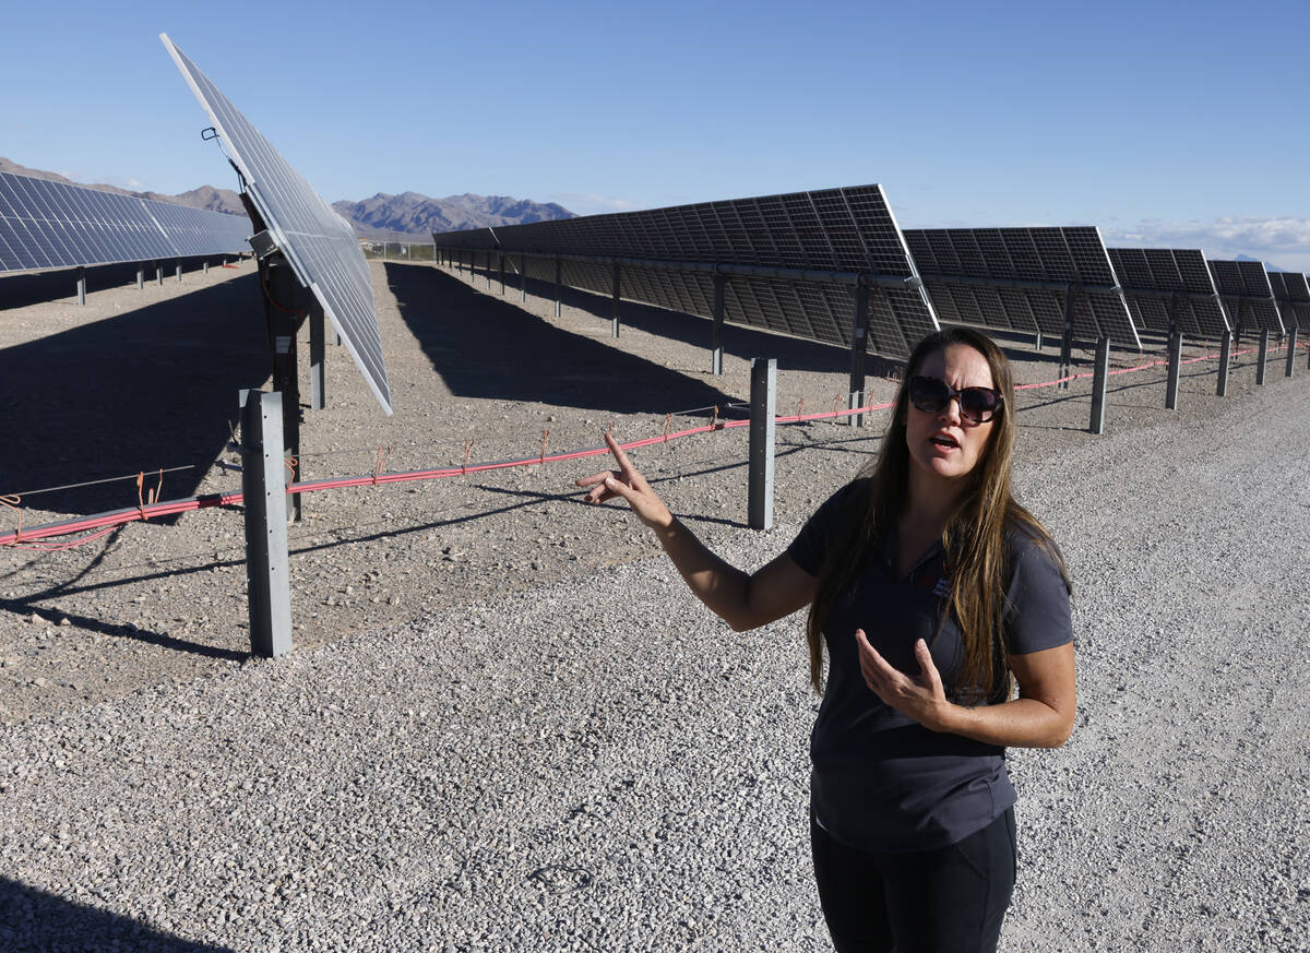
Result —
[[[876, 541], [893, 531], [905, 508], [909, 487], [909, 448], [905, 423], [909, 414], [909, 380], [920, 372], [929, 356], [951, 344], [964, 344], [981, 353], [992, 369], [993, 386], [1002, 403], [993, 418], [990, 439], [969, 474], [968, 486], [946, 522], [942, 546], [951, 569], [951, 594], [947, 611], [959, 623], [964, 657], [956, 673], [955, 689], [977, 692], [973, 703], [986, 699], [1003, 702], [1013, 691], [1003, 632], [1005, 584], [1009, 569], [1006, 537], [1019, 529], [1043, 546], [1060, 567], [1065, 586], [1069, 573], [1051, 541], [1051, 534], [1027, 509], [1020, 507], [1010, 486], [1010, 461], [1014, 454], [1014, 376], [1010, 361], [996, 343], [980, 331], [952, 327], [924, 338], [905, 364], [905, 374], [896, 391], [892, 423], [883, 439], [878, 459], [861, 473], [867, 476], [862, 492], [850, 501], [844, 531], [828, 547], [819, 569], [819, 590], [810, 606], [806, 640], [810, 644], [810, 682], [821, 691], [823, 630], [838, 593], [854, 577]], [[945, 617], [943, 617], [945, 620]], [[947, 686], [947, 691], [951, 686]]]

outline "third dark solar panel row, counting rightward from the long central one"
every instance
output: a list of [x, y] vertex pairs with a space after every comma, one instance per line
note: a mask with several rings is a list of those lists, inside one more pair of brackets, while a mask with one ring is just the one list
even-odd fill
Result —
[[1222, 338], [1231, 330], [1200, 249], [1106, 250], [1138, 326], [1167, 334], [1176, 309], [1175, 326], [1184, 336]]

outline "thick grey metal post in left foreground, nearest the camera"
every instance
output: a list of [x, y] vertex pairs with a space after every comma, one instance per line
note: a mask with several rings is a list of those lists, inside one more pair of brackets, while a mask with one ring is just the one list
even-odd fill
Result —
[[250, 653], [275, 658], [291, 651], [282, 394], [241, 391], [241, 446]]

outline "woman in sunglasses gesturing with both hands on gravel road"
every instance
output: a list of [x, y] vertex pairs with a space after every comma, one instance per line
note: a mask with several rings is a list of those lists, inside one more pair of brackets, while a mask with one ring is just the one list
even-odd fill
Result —
[[[994, 950], [1015, 874], [1006, 746], [1074, 721], [1069, 580], [1010, 491], [1014, 382], [985, 335], [914, 348], [871, 471], [753, 575], [710, 552], [607, 436], [621, 496], [736, 631], [810, 606], [811, 848], [840, 952]], [[1014, 696], [1013, 683], [1018, 683]]]

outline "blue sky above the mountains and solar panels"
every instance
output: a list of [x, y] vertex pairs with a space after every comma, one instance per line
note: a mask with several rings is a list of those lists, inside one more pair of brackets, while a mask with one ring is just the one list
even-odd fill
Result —
[[880, 182], [904, 228], [1099, 225], [1310, 271], [1310, 3], [21, 4], [0, 156], [234, 187], [168, 33], [329, 202], [574, 212]]

